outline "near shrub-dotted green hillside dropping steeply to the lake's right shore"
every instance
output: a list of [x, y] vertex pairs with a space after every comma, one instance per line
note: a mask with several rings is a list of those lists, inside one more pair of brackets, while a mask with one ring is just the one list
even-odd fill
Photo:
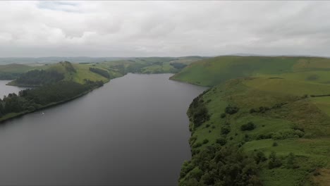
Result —
[[[257, 178], [245, 184], [322, 185], [330, 178], [330, 97], [318, 97], [324, 94], [330, 85], [261, 77], [229, 80], [204, 92], [188, 111], [193, 159], [183, 164], [180, 185], [224, 179], [219, 163], [229, 157], [205, 156], [216, 146], [237, 148], [254, 160]], [[240, 171], [233, 174], [251, 176]]]

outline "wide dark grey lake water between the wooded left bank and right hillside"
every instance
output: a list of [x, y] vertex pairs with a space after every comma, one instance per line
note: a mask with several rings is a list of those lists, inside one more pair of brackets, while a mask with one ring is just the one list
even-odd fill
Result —
[[128, 74], [0, 125], [0, 185], [176, 185], [205, 88], [170, 76]]

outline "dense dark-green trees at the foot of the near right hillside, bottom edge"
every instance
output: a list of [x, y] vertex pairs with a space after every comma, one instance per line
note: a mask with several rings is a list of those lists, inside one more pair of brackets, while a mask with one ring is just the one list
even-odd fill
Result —
[[253, 156], [215, 144], [183, 163], [179, 185], [262, 185], [258, 170]]

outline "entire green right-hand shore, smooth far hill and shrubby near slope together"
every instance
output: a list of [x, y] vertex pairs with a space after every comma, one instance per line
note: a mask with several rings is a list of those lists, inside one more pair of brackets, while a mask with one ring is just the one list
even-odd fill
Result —
[[[183, 163], [179, 185], [328, 185], [329, 67], [327, 58], [224, 56], [175, 75], [212, 86], [190, 104], [193, 156]], [[239, 153], [241, 166], [215, 166], [210, 149], [229, 149], [222, 159], [230, 162]], [[243, 172], [232, 173], [237, 167]], [[227, 173], [251, 180], [226, 182]]]

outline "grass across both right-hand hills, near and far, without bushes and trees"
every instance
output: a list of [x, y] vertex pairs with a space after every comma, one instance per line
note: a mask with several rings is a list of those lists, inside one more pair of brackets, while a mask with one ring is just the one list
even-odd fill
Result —
[[[269, 169], [267, 162], [262, 164], [259, 176], [264, 185], [312, 185], [315, 182], [326, 185], [326, 180], [330, 179], [330, 97], [304, 95], [330, 94], [329, 67], [329, 59], [305, 57], [224, 56], [191, 64], [172, 79], [216, 85], [203, 95], [211, 118], [192, 133], [192, 137], [197, 137], [195, 143], [202, 144], [205, 139], [209, 142], [193, 149], [214, 144], [223, 136], [221, 127], [229, 126], [227, 145], [238, 146], [247, 153], [263, 151], [267, 156], [276, 151], [282, 158], [280, 168]], [[250, 109], [272, 108], [281, 103], [280, 108], [250, 113]], [[228, 104], [240, 110], [221, 118]], [[249, 121], [257, 128], [241, 131], [240, 126]], [[284, 136], [294, 127], [303, 128], [304, 136], [259, 138], [259, 135], [269, 134]], [[273, 147], [274, 142], [279, 145]], [[286, 156], [290, 152], [295, 154], [299, 168], [286, 168]]]

